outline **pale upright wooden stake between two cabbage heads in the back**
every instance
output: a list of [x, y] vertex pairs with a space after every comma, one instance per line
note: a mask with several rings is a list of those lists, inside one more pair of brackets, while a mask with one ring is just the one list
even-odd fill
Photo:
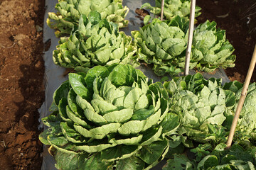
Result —
[[185, 75], [188, 75], [188, 70], [189, 70], [191, 47], [192, 47], [192, 41], [193, 41], [193, 27], [195, 23], [195, 11], [196, 11], [196, 0], [191, 0], [191, 14], [189, 18], [189, 29], [188, 29], [188, 47], [186, 50], [186, 61], [185, 61]]

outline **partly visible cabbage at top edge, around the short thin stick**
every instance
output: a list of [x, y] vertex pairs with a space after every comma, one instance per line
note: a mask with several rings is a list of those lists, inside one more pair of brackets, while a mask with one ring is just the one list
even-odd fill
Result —
[[[181, 16], [189, 18], [190, 15], [190, 0], [166, 0], [164, 1], [164, 17], [171, 20], [174, 16]], [[151, 6], [149, 3], [145, 3], [141, 8], [149, 8], [151, 13], [156, 15], [161, 14], [161, 0], [156, 0], [156, 6]], [[200, 7], [196, 6], [195, 16], [199, 16], [201, 12]]]

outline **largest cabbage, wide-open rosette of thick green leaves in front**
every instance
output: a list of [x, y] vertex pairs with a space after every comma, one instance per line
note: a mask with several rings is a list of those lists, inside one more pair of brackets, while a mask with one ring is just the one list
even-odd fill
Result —
[[53, 95], [56, 109], [43, 118], [49, 128], [40, 140], [58, 169], [150, 169], [179, 125], [167, 97], [161, 83], [129, 64], [70, 73]]

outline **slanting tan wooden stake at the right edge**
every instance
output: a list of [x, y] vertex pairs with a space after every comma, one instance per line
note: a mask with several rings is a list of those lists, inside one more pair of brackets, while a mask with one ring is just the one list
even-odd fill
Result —
[[227, 148], [231, 147], [232, 140], [233, 140], [233, 137], [234, 137], [234, 134], [235, 134], [235, 128], [238, 125], [238, 118], [239, 118], [240, 112], [242, 110], [242, 105], [245, 102], [245, 97], [246, 97], [246, 94], [247, 94], [248, 86], [250, 84], [250, 79], [252, 78], [252, 73], [253, 73], [253, 70], [255, 68], [255, 64], [256, 64], [256, 45], [255, 45], [255, 50], [254, 50], [253, 55], [252, 55], [252, 60], [250, 62], [250, 67], [249, 67], [247, 75], [246, 75], [245, 84], [242, 87], [242, 94], [240, 96], [240, 100], [239, 100], [239, 103], [238, 103], [238, 108], [235, 111], [235, 116], [233, 118], [233, 122], [232, 122], [232, 125], [231, 125], [231, 128], [230, 128], [230, 133], [228, 135], [228, 142], [227, 142], [228, 146], [227, 146]]

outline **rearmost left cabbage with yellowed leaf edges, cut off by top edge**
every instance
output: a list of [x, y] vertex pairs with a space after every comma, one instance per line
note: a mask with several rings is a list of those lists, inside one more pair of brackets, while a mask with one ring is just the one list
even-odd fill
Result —
[[90, 11], [99, 12], [102, 18], [117, 23], [120, 28], [128, 25], [124, 18], [129, 8], [122, 6], [122, 0], [58, 0], [55, 9], [57, 13], [48, 13], [47, 24], [56, 30], [57, 37], [70, 34], [78, 26], [80, 16], [89, 16]]

